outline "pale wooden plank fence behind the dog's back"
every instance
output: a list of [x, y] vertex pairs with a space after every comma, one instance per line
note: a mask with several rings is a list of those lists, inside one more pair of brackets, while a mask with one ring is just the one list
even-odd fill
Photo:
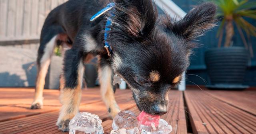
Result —
[[38, 44], [48, 13], [67, 0], [0, 0], [0, 45]]

